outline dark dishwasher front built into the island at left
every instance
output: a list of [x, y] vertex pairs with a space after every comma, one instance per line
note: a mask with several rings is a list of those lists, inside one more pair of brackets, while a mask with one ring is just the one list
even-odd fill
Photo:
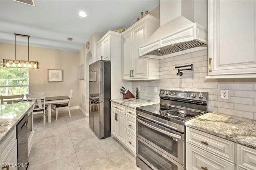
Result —
[[28, 115], [20, 120], [16, 125], [17, 150], [18, 150], [18, 170], [28, 168]]

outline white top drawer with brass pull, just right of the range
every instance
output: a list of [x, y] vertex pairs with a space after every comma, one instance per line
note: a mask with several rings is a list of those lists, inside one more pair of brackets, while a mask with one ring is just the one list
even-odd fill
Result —
[[186, 127], [186, 142], [221, 156], [228, 161], [235, 162], [234, 142], [189, 127]]

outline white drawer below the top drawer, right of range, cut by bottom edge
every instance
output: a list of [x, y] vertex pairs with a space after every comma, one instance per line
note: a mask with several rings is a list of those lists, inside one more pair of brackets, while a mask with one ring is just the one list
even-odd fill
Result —
[[235, 164], [186, 143], [187, 170], [234, 170]]

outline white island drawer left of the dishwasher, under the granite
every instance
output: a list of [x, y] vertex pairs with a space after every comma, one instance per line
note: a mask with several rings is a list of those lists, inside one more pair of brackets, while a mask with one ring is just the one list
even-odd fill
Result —
[[12, 143], [16, 140], [16, 127], [14, 127], [7, 135], [7, 137], [0, 143], [0, 154], [6, 154]]

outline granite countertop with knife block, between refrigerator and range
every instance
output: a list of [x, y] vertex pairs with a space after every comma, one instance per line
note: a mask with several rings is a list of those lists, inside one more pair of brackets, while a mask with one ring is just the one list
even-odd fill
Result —
[[154, 102], [151, 100], [143, 100], [143, 99], [136, 99], [136, 98], [131, 98], [131, 99], [112, 99], [110, 100], [111, 102], [115, 102], [118, 104], [122, 104], [124, 106], [132, 107], [136, 109], [136, 107], [140, 106], [148, 106], [151, 104], [158, 104], [159, 102]]

